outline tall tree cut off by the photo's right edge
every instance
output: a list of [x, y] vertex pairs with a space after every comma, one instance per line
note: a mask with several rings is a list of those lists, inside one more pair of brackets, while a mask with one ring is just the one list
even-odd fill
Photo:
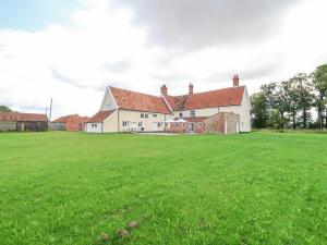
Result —
[[[313, 72], [312, 74], [315, 89], [317, 90], [318, 97], [316, 99], [316, 107], [318, 111], [318, 119], [320, 128], [324, 125], [323, 112], [326, 109], [326, 96], [327, 96], [327, 64], [323, 64]], [[327, 111], [326, 111], [327, 113]], [[326, 128], [327, 128], [327, 117], [326, 117]]]

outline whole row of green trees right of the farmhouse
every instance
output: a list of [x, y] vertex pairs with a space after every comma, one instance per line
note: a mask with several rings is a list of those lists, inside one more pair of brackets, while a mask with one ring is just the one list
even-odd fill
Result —
[[255, 128], [327, 128], [327, 64], [262, 85], [251, 105]]

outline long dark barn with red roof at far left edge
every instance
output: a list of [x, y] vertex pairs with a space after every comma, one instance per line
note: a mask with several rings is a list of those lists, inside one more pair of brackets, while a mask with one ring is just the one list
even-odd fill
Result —
[[46, 114], [0, 112], [0, 131], [47, 131]]

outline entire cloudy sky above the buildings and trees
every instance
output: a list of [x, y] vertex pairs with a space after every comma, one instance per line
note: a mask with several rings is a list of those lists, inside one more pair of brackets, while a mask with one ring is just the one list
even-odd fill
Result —
[[250, 94], [327, 63], [326, 0], [0, 0], [0, 105], [52, 119], [107, 86]]

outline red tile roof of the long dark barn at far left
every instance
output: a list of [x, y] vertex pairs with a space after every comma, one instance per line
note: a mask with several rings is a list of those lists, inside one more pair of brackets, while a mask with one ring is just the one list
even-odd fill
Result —
[[0, 121], [14, 122], [48, 122], [46, 114], [20, 113], [20, 112], [0, 112]]

